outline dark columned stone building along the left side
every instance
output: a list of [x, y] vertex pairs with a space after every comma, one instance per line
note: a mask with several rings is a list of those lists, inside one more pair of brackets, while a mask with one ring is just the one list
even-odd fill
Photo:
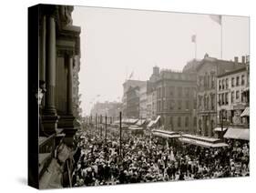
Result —
[[[37, 188], [72, 186], [70, 171], [74, 164], [74, 136], [77, 132], [77, 125], [74, 124], [77, 109], [73, 104], [77, 103], [78, 97], [78, 69], [75, 68], [80, 56], [80, 27], [72, 24], [73, 9], [68, 5], [36, 5], [29, 8], [28, 33], [30, 39], [36, 37], [33, 45], [37, 45], [38, 49], [34, 65], [39, 68], [39, 85], [46, 85], [39, 118], [36, 117], [40, 128], [36, 141], [38, 148], [34, 147], [37, 152], [32, 155], [36, 157], [38, 166], [29, 164], [33, 169], [29, 169], [28, 183]], [[33, 27], [37, 27], [37, 31], [31, 31]], [[30, 52], [31, 49], [30, 43]], [[33, 84], [37, 86], [38, 82]], [[37, 179], [38, 186], [35, 181], [33, 183]]]

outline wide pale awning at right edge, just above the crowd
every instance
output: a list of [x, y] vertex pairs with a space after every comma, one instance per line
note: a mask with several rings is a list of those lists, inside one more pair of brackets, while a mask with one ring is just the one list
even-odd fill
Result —
[[250, 140], [249, 128], [229, 128], [224, 138], [235, 138], [242, 140]]

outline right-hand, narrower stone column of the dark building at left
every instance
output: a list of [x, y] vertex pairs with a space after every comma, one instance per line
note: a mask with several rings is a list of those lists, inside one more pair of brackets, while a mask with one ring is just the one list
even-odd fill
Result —
[[67, 115], [73, 115], [73, 57], [67, 56]]

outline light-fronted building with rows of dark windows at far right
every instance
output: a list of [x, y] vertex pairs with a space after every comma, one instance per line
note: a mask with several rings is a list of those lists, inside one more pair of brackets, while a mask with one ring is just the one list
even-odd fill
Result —
[[[244, 63], [244, 58], [242, 56], [242, 63]], [[224, 127], [249, 128], [249, 115], [241, 116], [245, 109], [249, 107], [248, 75], [248, 67], [244, 65], [237, 69], [223, 72], [218, 76], [217, 122], [219, 125], [222, 122]]]

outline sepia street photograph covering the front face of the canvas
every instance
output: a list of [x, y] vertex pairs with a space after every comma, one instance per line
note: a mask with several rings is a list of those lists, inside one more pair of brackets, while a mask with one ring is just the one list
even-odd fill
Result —
[[250, 175], [249, 17], [42, 5], [39, 24], [40, 188]]

